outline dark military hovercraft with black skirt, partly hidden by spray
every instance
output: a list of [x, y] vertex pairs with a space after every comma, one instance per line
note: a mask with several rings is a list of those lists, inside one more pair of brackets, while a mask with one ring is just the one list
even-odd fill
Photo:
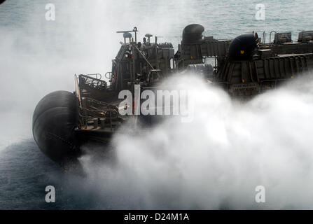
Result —
[[[208, 87], [217, 85], [231, 97], [251, 98], [272, 90], [313, 67], [313, 31], [302, 31], [298, 41], [291, 33], [243, 34], [232, 40], [202, 36], [204, 27], [188, 25], [175, 52], [172, 43], [158, 43], [146, 34], [137, 41], [137, 27], [123, 34], [112, 69], [100, 74], [75, 75], [75, 92], [57, 91], [43, 97], [33, 116], [36, 144], [50, 159], [64, 165], [81, 155], [87, 141], [108, 143], [123, 123], [138, 116], [120, 114], [118, 94], [135, 87], [162, 88], [162, 81], [183, 71], [204, 78]], [[133, 37], [134, 36], [134, 37]], [[273, 37], [273, 38], [272, 38]], [[208, 63], [211, 62], [211, 63]], [[108, 83], [109, 82], [109, 83]], [[136, 99], [133, 100], [132, 108]], [[143, 118], [144, 116], [139, 116]], [[146, 116], [153, 125], [153, 116]]]

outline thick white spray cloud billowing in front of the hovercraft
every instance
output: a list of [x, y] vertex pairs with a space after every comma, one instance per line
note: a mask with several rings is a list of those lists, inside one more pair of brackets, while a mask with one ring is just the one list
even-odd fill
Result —
[[[312, 208], [313, 95], [298, 88], [304, 80], [250, 102], [194, 77], [180, 82], [197, 96], [192, 123], [171, 118], [116, 134], [113, 166], [81, 159], [103, 200], [132, 209]], [[264, 204], [256, 186], [265, 186]]]

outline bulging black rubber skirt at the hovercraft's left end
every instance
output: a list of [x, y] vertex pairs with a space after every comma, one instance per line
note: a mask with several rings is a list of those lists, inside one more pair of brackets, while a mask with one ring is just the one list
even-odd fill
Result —
[[37, 104], [33, 135], [41, 151], [51, 160], [62, 163], [79, 153], [74, 132], [77, 119], [77, 100], [71, 92], [52, 92]]

